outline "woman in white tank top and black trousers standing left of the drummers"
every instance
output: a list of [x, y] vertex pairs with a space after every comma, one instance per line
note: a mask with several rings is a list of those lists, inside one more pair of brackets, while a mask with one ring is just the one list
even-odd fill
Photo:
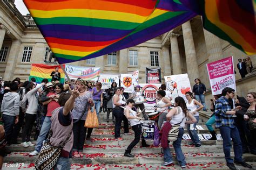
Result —
[[128, 120], [124, 115], [125, 102], [122, 101], [120, 98], [121, 88], [114, 89], [114, 96], [113, 96], [113, 115], [116, 119], [116, 123], [114, 124], [114, 138], [123, 140], [120, 136], [120, 129], [122, 121], [124, 121], [124, 134], [129, 133], [129, 125]]

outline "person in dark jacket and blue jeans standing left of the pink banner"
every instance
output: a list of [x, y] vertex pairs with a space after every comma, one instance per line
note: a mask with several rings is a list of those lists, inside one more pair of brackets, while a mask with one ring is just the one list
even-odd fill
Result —
[[204, 111], [207, 111], [206, 109], [206, 104], [205, 104], [205, 91], [206, 91], [206, 87], [205, 84], [201, 83], [200, 79], [195, 79], [194, 82], [196, 84], [194, 84], [193, 86], [193, 95], [196, 98], [196, 100], [199, 102], [201, 102], [204, 106]]

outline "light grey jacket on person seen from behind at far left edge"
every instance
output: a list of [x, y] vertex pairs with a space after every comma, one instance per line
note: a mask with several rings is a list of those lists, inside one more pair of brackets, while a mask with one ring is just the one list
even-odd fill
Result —
[[1, 111], [4, 115], [19, 115], [19, 94], [16, 92], [8, 92], [4, 94]]

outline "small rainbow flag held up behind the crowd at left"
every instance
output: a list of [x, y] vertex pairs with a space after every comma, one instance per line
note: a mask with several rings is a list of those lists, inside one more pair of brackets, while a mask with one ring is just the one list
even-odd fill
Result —
[[50, 75], [51, 75], [51, 72], [55, 71], [56, 67], [59, 68], [58, 72], [60, 73], [60, 83], [64, 83], [65, 74], [64, 74], [62, 68], [60, 68], [59, 65], [58, 66], [48, 66], [48, 65], [44, 65], [44, 64], [32, 63], [32, 67], [31, 67], [30, 75], [29, 75], [29, 80], [32, 77], [35, 77], [37, 83], [41, 83], [43, 79], [48, 79], [48, 81], [51, 82], [52, 77]]

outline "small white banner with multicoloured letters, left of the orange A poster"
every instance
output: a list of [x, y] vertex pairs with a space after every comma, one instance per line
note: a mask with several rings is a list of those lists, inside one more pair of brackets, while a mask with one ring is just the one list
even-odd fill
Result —
[[117, 83], [117, 87], [119, 87], [119, 77], [118, 77], [118, 75], [100, 74], [99, 82], [102, 83], [102, 89], [110, 88], [112, 82], [116, 82]]

